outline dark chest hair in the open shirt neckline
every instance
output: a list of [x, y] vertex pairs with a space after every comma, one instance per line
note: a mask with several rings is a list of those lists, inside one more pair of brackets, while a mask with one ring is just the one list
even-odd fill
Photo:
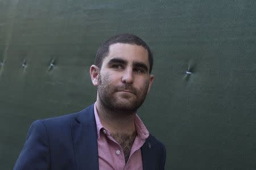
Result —
[[117, 143], [122, 147], [123, 154], [125, 154], [125, 163], [127, 163], [131, 146], [133, 146], [134, 139], [137, 135], [136, 131], [133, 134], [111, 134]]

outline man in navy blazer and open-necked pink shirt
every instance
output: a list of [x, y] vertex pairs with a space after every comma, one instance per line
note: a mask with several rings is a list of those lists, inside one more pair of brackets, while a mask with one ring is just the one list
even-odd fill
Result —
[[136, 114], [154, 76], [139, 37], [117, 35], [90, 67], [96, 103], [78, 113], [35, 121], [14, 169], [164, 169], [166, 149]]

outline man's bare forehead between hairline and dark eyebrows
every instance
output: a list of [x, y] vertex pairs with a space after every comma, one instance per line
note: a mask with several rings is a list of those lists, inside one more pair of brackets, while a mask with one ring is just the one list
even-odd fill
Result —
[[116, 43], [109, 46], [108, 56], [103, 63], [108, 63], [112, 58], [121, 58], [128, 62], [143, 62], [149, 67], [148, 52], [141, 45]]

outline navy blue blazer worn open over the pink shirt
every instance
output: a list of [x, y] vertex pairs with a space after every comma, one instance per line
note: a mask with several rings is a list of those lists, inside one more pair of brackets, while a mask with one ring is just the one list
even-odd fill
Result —
[[[73, 114], [35, 121], [15, 170], [98, 169], [93, 105]], [[166, 148], [150, 135], [141, 148], [143, 169], [164, 169]]]

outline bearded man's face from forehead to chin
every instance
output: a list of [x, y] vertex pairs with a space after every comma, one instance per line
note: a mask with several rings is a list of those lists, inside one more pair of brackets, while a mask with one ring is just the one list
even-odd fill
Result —
[[154, 79], [143, 46], [117, 43], [109, 46], [97, 76], [98, 99], [114, 111], [135, 112]]

